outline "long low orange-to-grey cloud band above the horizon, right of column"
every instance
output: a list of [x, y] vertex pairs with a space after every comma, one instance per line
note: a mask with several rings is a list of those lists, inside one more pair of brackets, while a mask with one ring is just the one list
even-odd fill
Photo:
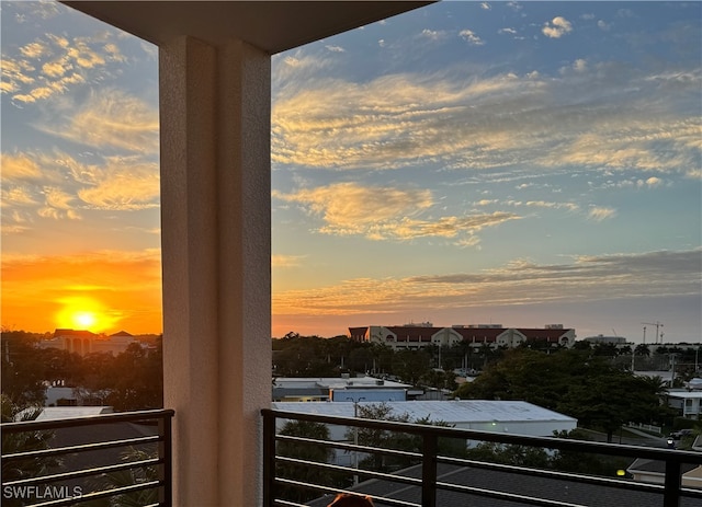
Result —
[[[354, 278], [273, 295], [274, 314], [353, 315], [699, 295], [700, 250], [514, 260], [476, 273]], [[378, 310], [380, 309], [380, 310]]]

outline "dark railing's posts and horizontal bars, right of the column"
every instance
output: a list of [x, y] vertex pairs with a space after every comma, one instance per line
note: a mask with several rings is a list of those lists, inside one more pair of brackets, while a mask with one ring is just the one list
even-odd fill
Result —
[[[278, 505], [275, 502], [282, 500], [282, 498], [274, 498], [273, 489], [275, 484], [284, 484], [301, 488], [312, 488], [315, 491], [324, 491], [332, 493], [335, 489], [328, 485], [312, 484], [307, 481], [298, 481], [293, 479], [285, 479], [278, 476], [276, 464], [294, 468], [309, 466], [318, 470], [326, 470], [328, 472], [346, 473], [347, 475], [353, 475], [355, 477], [354, 483], [358, 482], [358, 477], [364, 480], [373, 479], [376, 481], [392, 481], [394, 483], [405, 484], [404, 487], [419, 487], [422, 495], [422, 507], [435, 507], [437, 506], [437, 492], [454, 492], [464, 495], [476, 495], [487, 498], [496, 498], [508, 502], [516, 502], [522, 505], [540, 505], [540, 506], [571, 506], [580, 507], [585, 504], [579, 504], [577, 500], [565, 500], [556, 497], [551, 498], [544, 495], [535, 497], [533, 495], [525, 495], [517, 491], [496, 491], [486, 487], [477, 487], [477, 485], [465, 485], [444, 482], [439, 480], [437, 475], [437, 469], [440, 465], [457, 466], [457, 468], [475, 468], [484, 469], [494, 473], [510, 473], [521, 474], [541, 477], [547, 481], [562, 481], [569, 482], [571, 484], [589, 484], [601, 487], [609, 487], [612, 489], [626, 489], [632, 492], [638, 492], [641, 494], [650, 494], [660, 497], [664, 507], [678, 506], [679, 499], [683, 497], [702, 498], [702, 489], [695, 491], [689, 487], [681, 486], [681, 465], [689, 463], [691, 465], [702, 466], [702, 453], [681, 451], [675, 449], [660, 449], [643, 446], [631, 445], [618, 445], [618, 443], [604, 443], [592, 442], [584, 440], [563, 439], [555, 437], [533, 437], [525, 435], [501, 434], [491, 431], [479, 431], [472, 429], [458, 429], [445, 426], [431, 426], [431, 425], [418, 425], [411, 423], [398, 423], [386, 422], [376, 419], [363, 419], [355, 417], [339, 417], [339, 416], [326, 416], [317, 414], [304, 414], [276, 410], [262, 410], [264, 419], [264, 462], [270, 463], [264, 466], [264, 498], [268, 505]], [[341, 426], [351, 428], [347, 435], [353, 430], [353, 428], [363, 428], [370, 430], [387, 431], [388, 434], [406, 434], [421, 438], [424, 441], [422, 452], [406, 451], [400, 449], [376, 448], [366, 445], [350, 443], [348, 441], [332, 441], [321, 440], [305, 437], [295, 437], [279, 435], [275, 433], [276, 420], [306, 420], [314, 423], [322, 423], [328, 427]], [[528, 468], [510, 464], [500, 464], [486, 461], [472, 460], [466, 458], [455, 458], [440, 456], [437, 450], [438, 439], [460, 439], [467, 442], [492, 442], [497, 445], [513, 445], [525, 446], [546, 450], [548, 453], [553, 453], [554, 450], [577, 452], [585, 454], [600, 454], [620, 458], [634, 458], [645, 459], [661, 462], [665, 468], [665, 483], [664, 484], [650, 484], [635, 482], [624, 479], [607, 477], [601, 475], [588, 475], [585, 473], [570, 473], [552, 469], [543, 468]], [[285, 442], [286, 445], [301, 445], [301, 446], [319, 446], [326, 449], [341, 449], [346, 452], [356, 453], [355, 466], [336, 465], [330, 463], [322, 463], [319, 461], [302, 460], [298, 458], [291, 458], [278, 454], [275, 452], [275, 442]], [[272, 453], [272, 454], [271, 454]], [[377, 472], [371, 470], [364, 470], [358, 465], [358, 456], [364, 457], [373, 454], [384, 454], [395, 458], [401, 458], [408, 461], [409, 466], [411, 463], [422, 464], [422, 479], [409, 477], [401, 475], [401, 471], [394, 472]], [[416, 472], [415, 472], [416, 473]], [[403, 477], [403, 479], [400, 479]], [[429, 482], [428, 482], [429, 481]], [[505, 488], [502, 488], [505, 489]], [[355, 487], [352, 491], [356, 491]], [[358, 489], [362, 491], [362, 489]], [[395, 500], [386, 502], [386, 498], [374, 497], [374, 499], [383, 502], [383, 505], [400, 505], [393, 504]], [[403, 504], [403, 505], [416, 505], [416, 504]]]

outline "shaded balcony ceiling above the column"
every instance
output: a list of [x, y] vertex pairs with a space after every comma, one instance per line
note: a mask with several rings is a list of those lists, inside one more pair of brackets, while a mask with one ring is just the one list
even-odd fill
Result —
[[275, 54], [431, 1], [64, 1], [156, 45], [191, 35], [233, 38]]

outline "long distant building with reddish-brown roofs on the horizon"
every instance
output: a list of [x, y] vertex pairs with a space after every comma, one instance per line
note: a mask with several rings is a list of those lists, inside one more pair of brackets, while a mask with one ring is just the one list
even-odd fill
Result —
[[434, 327], [431, 323], [419, 325], [349, 327], [349, 337], [356, 342], [387, 345], [394, 349], [419, 349], [430, 345], [453, 346], [469, 343], [475, 347], [513, 348], [525, 343], [573, 347], [575, 330], [562, 324], [550, 324], [543, 329], [502, 327], [500, 324], [453, 325]]

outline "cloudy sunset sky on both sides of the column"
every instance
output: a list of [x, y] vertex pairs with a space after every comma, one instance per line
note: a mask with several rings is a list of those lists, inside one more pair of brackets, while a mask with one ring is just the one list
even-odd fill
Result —
[[[0, 8], [2, 326], [160, 333], [158, 50]], [[274, 55], [272, 336], [700, 342], [701, 25], [700, 2], [446, 1]]]

